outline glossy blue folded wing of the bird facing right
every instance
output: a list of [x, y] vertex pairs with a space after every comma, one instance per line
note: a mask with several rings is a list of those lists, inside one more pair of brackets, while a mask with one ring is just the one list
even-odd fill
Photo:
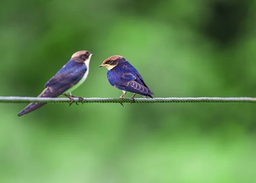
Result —
[[76, 85], [86, 71], [85, 64], [70, 60], [45, 84], [45, 87], [50, 87], [52, 92], [61, 95]]

